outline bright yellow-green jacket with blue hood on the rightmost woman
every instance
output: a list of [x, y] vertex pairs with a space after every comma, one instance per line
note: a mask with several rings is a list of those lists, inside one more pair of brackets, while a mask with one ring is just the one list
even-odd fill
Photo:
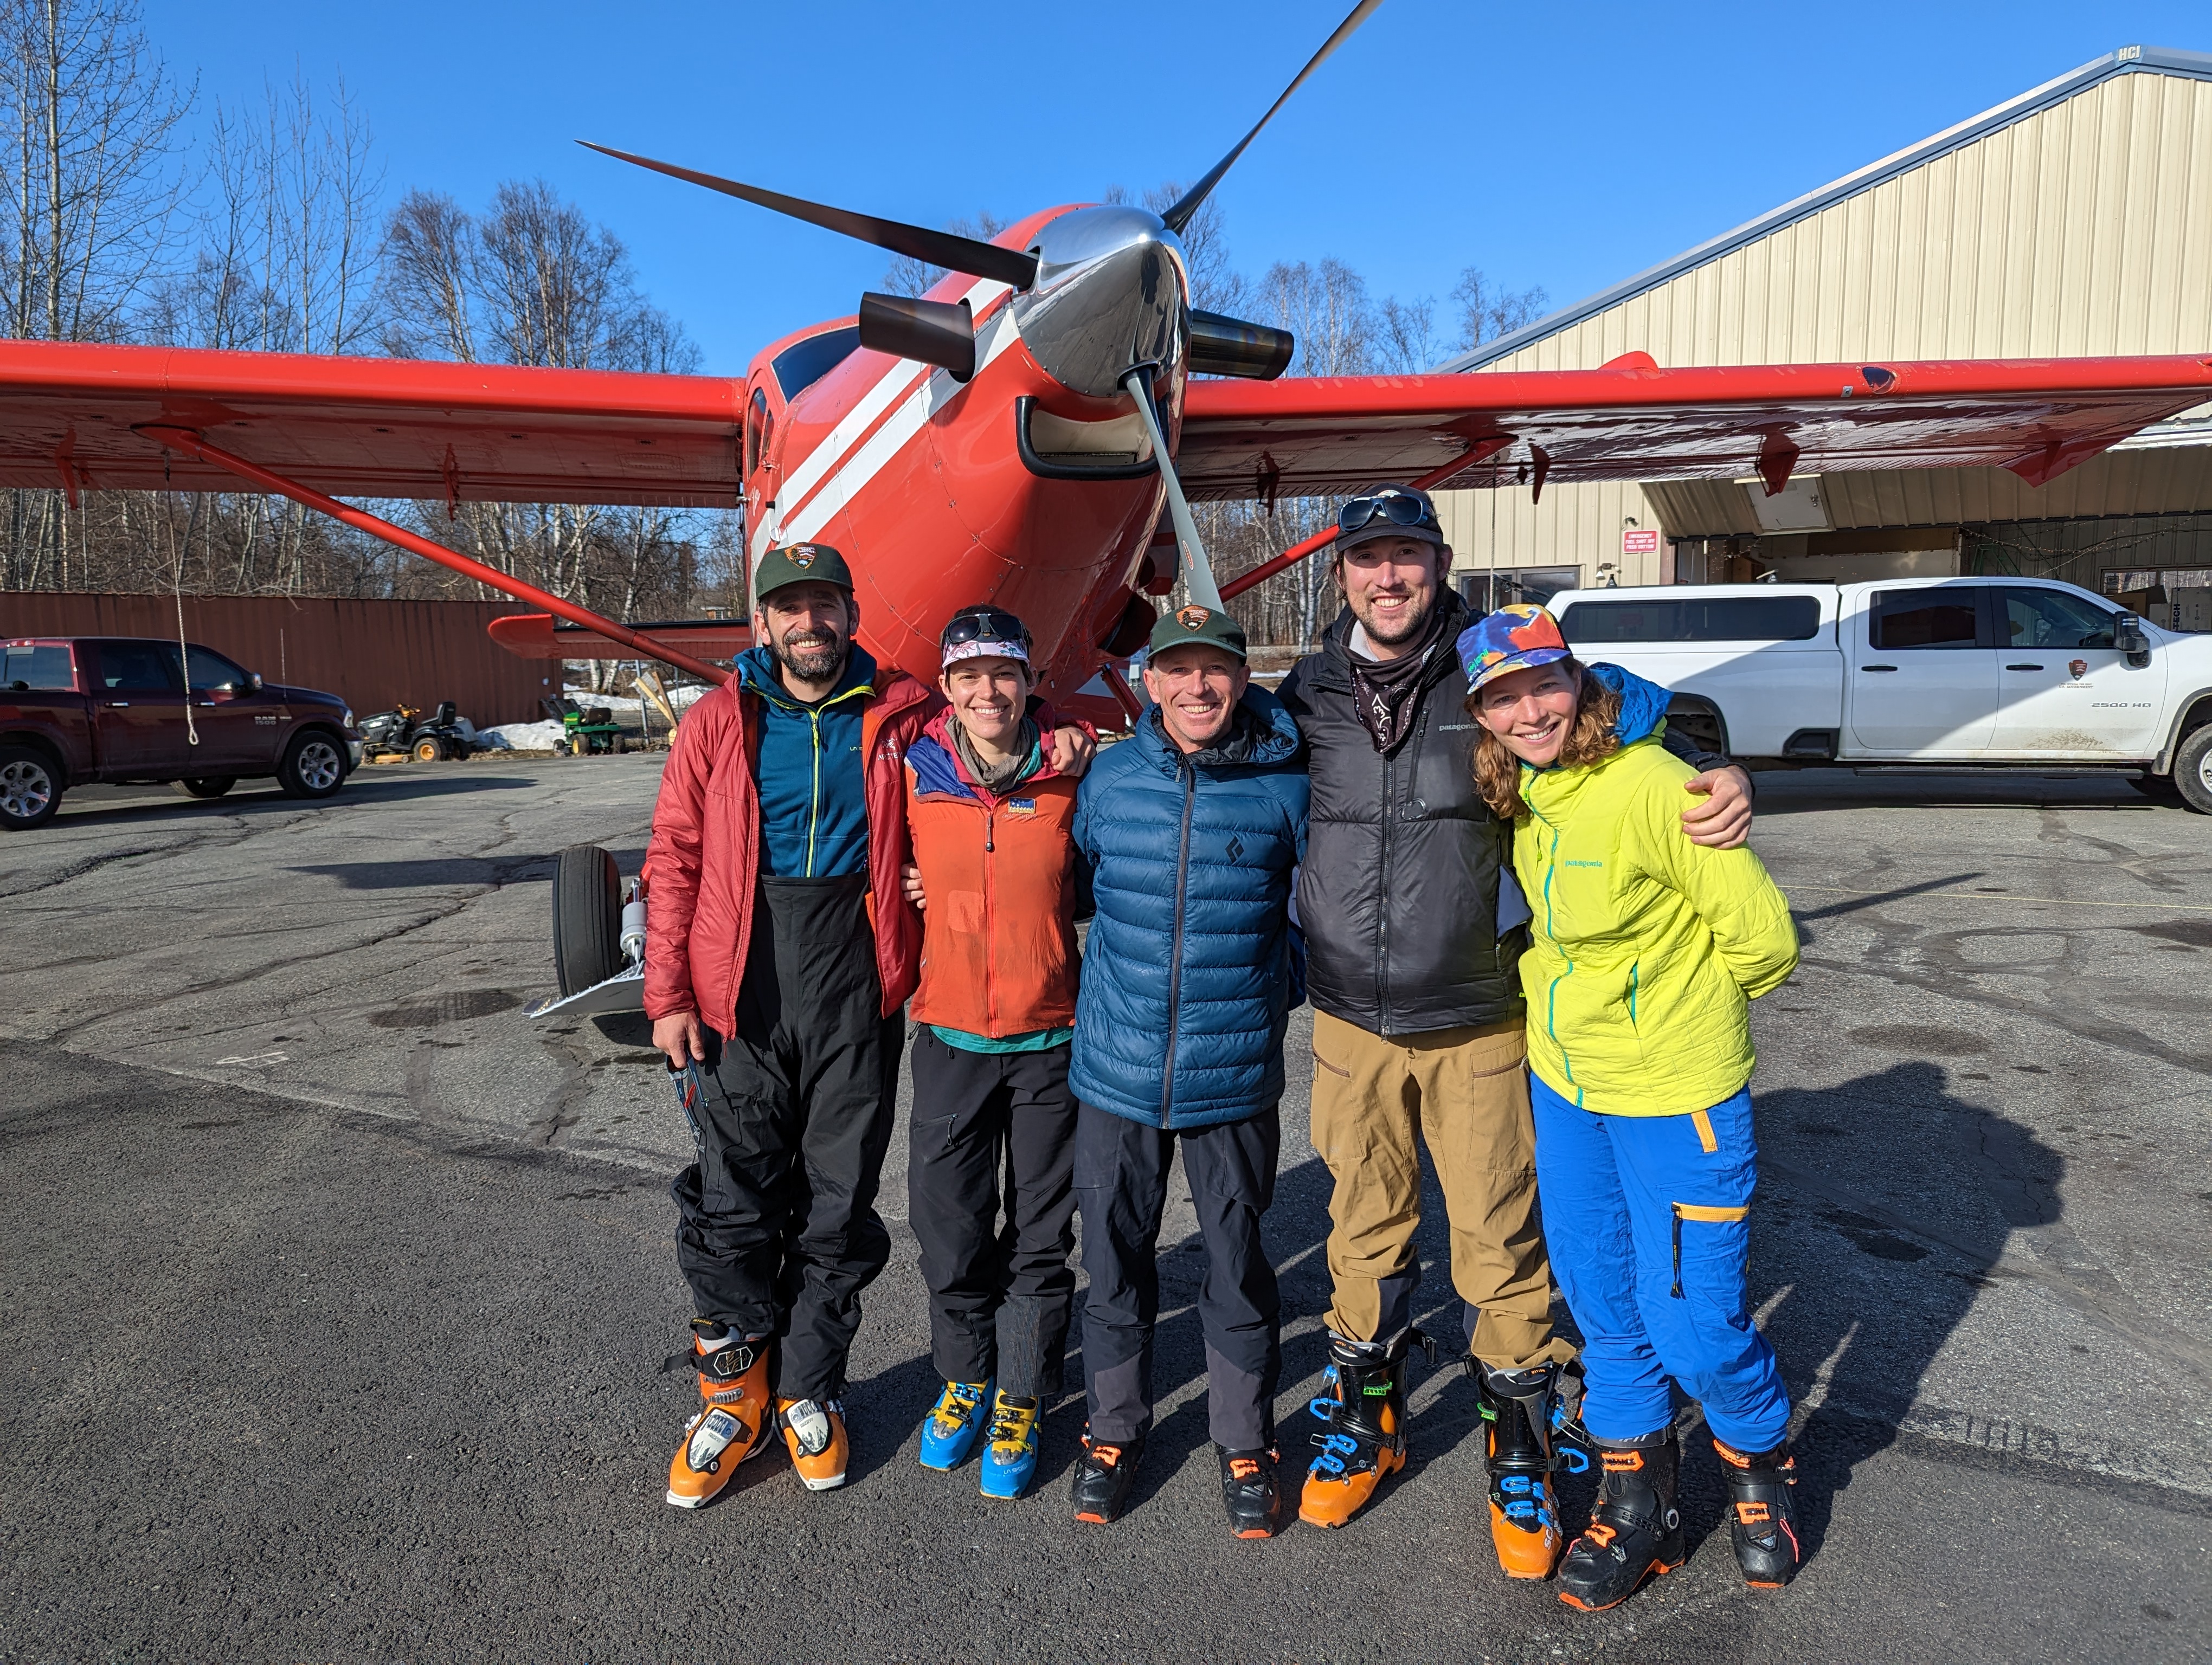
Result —
[[1750, 849], [1683, 836], [1692, 772], [1655, 739], [1666, 692], [1593, 672], [1621, 688], [1630, 743], [1588, 767], [1522, 767], [1528, 1068], [1601, 1114], [1705, 1110], [1752, 1079], [1747, 1002], [1796, 971], [1796, 926]]

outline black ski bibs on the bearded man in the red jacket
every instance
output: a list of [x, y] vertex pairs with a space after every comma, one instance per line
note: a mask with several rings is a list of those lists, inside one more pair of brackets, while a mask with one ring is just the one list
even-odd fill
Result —
[[905, 1017], [883, 1015], [867, 878], [763, 878], [737, 1033], [708, 1041], [699, 1161], [670, 1185], [701, 1318], [776, 1336], [776, 1393], [832, 1400], [860, 1291], [891, 1258], [876, 1214]]

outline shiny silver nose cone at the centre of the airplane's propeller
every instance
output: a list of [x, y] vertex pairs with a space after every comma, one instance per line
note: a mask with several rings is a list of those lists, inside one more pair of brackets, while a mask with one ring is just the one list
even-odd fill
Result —
[[1144, 208], [1077, 208], [1031, 243], [1037, 281], [1013, 296], [1031, 356], [1077, 394], [1121, 391], [1135, 365], [1183, 354], [1190, 272], [1183, 245]]

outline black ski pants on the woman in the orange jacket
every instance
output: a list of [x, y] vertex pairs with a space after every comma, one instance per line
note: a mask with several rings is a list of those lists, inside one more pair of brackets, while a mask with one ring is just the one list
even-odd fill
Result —
[[998, 1378], [1018, 1400], [1060, 1391], [1075, 1305], [1073, 1167], [1066, 1046], [969, 1053], [916, 1030], [907, 1218], [929, 1285], [929, 1353], [947, 1382]]

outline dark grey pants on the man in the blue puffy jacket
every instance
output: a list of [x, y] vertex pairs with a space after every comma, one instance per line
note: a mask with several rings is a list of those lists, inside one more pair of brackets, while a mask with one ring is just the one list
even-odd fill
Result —
[[1276, 1108], [1245, 1121], [1166, 1132], [1097, 1106], [1075, 1119], [1075, 1196], [1084, 1214], [1084, 1378], [1091, 1437], [1128, 1444], [1152, 1426], [1152, 1329], [1159, 1320], [1159, 1214], [1168, 1167], [1199, 1212], [1206, 1280], [1206, 1417], [1225, 1451], [1274, 1444], [1274, 1389], [1283, 1375], [1281, 1300], [1259, 1216], [1274, 1201], [1281, 1148]]

